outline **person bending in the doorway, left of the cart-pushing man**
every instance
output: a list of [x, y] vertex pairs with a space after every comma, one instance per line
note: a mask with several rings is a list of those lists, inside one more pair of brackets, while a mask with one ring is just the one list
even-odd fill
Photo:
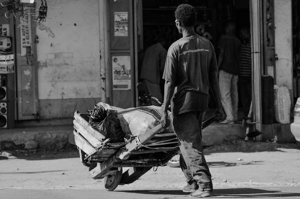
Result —
[[[162, 76], [167, 57], [167, 50], [164, 48], [166, 39], [159, 36], [157, 43], [149, 46], [143, 55], [141, 76], [147, 88], [147, 93], [163, 101], [163, 92], [161, 91]], [[152, 101], [152, 105], [159, 105]]]

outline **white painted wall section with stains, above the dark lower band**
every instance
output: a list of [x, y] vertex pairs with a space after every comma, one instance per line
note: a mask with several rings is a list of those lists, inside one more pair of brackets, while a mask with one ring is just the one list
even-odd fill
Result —
[[39, 100], [101, 97], [99, 1], [49, 2], [63, 15], [37, 27]]

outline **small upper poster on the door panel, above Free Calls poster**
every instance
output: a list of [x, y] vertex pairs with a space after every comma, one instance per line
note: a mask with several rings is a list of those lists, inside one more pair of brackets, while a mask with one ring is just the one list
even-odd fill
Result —
[[128, 36], [128, 12], [115, 12], [115, 37]]

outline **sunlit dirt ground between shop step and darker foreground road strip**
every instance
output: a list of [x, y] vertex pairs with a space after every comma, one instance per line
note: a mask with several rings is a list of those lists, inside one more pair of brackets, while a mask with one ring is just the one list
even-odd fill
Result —
[[[205, 147], [215, 189], [249, 186], [300, 186], [300, 144], [230, 139]], [[0, 187], [18, 189], [104, 189], [88, 175], [75, 146], [61, 151], [1, 151]], [[124, 168], [125, 169], [125, 168]], [[180, 168], [152, 168], [116, 190], [181, 189]]]

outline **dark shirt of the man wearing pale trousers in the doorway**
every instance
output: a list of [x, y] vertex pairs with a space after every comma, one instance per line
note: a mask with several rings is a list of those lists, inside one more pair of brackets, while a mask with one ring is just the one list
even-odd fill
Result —
[[224, 51], [223, 62], [219, 70], [238, 75], [241, 41], [234, 34], [228, 33], [220, 37], [218, 48]]

